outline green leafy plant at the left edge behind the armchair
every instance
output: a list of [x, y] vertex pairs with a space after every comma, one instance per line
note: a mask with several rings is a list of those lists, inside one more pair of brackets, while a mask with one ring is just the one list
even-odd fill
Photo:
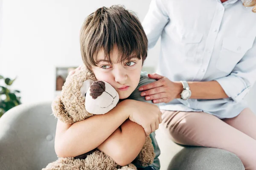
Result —
[[21, 104], [20, 97], [17, 96], [20, 91], [10, 89], [15, 79], [11, 80], [0, 75], [0, 81], [4, 80], [5, 82], [5, 85], [0, 85], [0, 117], [3, 116], [6, 111]]

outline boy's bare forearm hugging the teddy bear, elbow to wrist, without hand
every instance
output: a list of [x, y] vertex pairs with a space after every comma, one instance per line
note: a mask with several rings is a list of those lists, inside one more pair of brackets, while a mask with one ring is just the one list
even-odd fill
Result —
[[102, 144], [128, 119], [128, 113], [122, 109], [123, 104], [124, 102], [120, 102], [106, 114], [94, 115], [72, 125], [67, 125], [58, 120], [55, 135], [57, 156], [79, 156]]

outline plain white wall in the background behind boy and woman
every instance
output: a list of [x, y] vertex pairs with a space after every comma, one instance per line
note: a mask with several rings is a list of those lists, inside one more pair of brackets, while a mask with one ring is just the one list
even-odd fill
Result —
[[[0, 0], [2, 43], [0, 75], [17, 80], [13, 88], [22, 93], [22, 102], [52, 100], [55, 91], [55, 67], [82, 63], [79, 31], [84, 18], [102, 6], [125, 5], [143, 20], [150, 0]], [[159, 42], [149, 51], [145, 66], [154, 66]], [[247, 95], [256, 113], [253, 100], [256, 87]]]

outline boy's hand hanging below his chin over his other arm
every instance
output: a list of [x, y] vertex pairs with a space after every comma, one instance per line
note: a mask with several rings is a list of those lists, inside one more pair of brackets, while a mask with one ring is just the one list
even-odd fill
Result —
[[159, 124], [162, 122], [162, 113], [157, 105], [130, 99], [123, 102], [127, 102], [126, 105], [130, 111], [129, 119], [141, 125], [145, 130], [146, 136], [158, 129]]

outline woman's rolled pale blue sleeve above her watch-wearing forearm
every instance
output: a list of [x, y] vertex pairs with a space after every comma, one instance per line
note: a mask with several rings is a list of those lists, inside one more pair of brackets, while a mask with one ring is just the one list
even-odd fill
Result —
[[256, 41], [227, 77], [216, 79], [227, 96], [240, 102], [256, 80]]

